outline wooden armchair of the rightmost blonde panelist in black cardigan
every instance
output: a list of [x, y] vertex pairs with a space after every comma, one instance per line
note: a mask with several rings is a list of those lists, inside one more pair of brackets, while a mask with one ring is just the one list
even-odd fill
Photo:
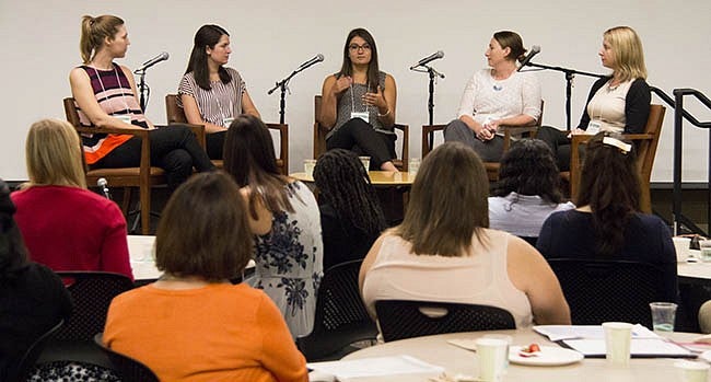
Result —
[[[640, 210], [642, 212], [652, 212], [652, 197], [650, 195], [650, 180], [652, 177], [652, 166], [654, 165], [654, 157], [656, 154], [656, 147], [660, 142], [660, 135], [662, 132], [662, 124], [664, 123], [664, 114], [666, 107], [662, 105], [651, 105], [650, 116], [644, 126], [642, 134], [625, 134], [622, 138], [633, 143], [637, 151], [637, 169], [640, 175]], [[570, 181], [570, 196], [575, 198], [578, 187], [580, 185], [580, 175], [582, 171], [582, 159], [580, 146], [585, 144], [593, 136], [578, 135], [571, 139], [570, 148], [570, 172], [561, 173], [563, 178]]]

